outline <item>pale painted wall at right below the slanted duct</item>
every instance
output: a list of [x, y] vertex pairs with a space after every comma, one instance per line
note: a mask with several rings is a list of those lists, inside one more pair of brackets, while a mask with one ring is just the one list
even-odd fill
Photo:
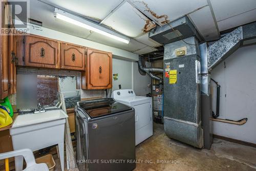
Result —
[[[222, 119], [248, 118], [244, 125], [214, 122], [214, 134], [256, 143], [256, 45], [243, 47], [212, 70], [212, 78], [221, 85]], [[224, 62], [226, 68], [224, 68]], [[212, 83], [215, 86], [214, 83]], [[216, 87], [212, 87], [212, 109], [216, 110]], [[226, 97], [225, 97], [226, 95]]]

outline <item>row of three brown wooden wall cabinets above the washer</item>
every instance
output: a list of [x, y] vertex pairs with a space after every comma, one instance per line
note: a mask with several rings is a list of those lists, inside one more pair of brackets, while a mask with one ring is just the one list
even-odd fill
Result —
[[78, 70], [82, 89], [112, 88], [112, 53], [40, 36], [17, 35], [18, 66]]

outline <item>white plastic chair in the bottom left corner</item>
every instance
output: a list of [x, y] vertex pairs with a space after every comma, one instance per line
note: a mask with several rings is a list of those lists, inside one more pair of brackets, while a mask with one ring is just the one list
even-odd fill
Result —
[[33, 155], [33, 152], [29, 148], [24, 148], [24, 149], [18, 149], [16, 151], [12, 152], [7, 152], [7, 153], [2, 153], [0, 154], [0, 160], [10, 158], [10, 157], [15, 157], [15, 156], [23, 156], [26, 163], [27, 167], [24, 170], [40, 170], [40, 171], [49, 171], [49, 168], [46, 163], [39, 163], [37, 164], [35, 162], [35, 157]]

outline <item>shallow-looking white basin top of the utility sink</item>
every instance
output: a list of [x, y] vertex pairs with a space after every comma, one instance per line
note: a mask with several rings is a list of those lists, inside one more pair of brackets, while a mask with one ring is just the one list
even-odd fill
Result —
[[43, 113], [36, 113], [36, 114], [34, 113], [23, 114], [23, 115], [18, 115], [16, 117], [12, 127], [14, 128], [19, 126], [26, 126], [26, 125], [47, 122], [47, 121], [52, 121], [52, 120], [57, 120], [57, 119], [62, 119], [67, 117], [68, 115], [62, 110], [51, 110], [51, 111], [46, 111]]

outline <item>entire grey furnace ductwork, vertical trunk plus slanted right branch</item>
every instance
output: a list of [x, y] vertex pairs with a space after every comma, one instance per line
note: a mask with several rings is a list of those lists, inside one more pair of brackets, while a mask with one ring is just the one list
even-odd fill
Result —
[[256, 22], [238, 27], [210, 47], [201, 44], [200, 48], [202, 38], [187, 16], [156, 28], [149, 33], [149, 37], [164, 45], [165, 134], [198, 148], [202, 148], [204, 142], [209, 142], [206, 144], [209, 148], [210, 112], [204, 110], [202, 120], [201, 87], [207, 99], [203, 102], [207, 101], [207, 105], [210, 105], [208, 70], [216, 67], [240, 46], [255, 43]]

